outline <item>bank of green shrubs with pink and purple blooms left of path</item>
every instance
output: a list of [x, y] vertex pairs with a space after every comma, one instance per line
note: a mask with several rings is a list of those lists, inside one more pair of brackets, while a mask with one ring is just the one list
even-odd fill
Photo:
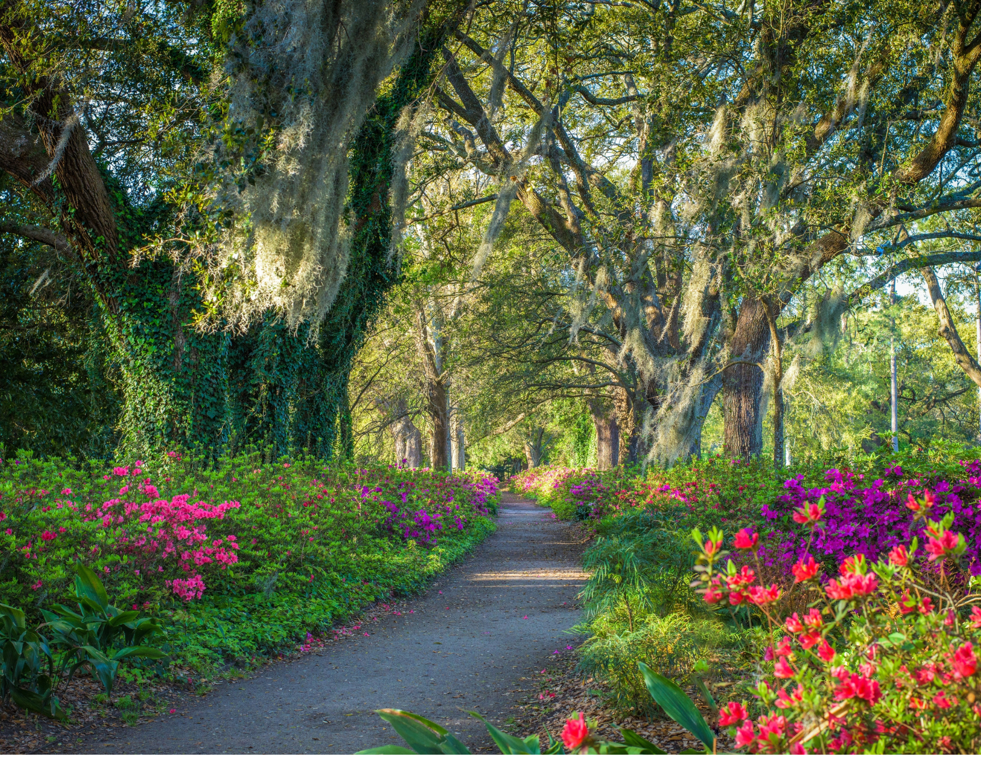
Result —
[[173, 451], [77, 469], [23, 453], [0, 464], [0, 601], [49, 607], [83, 564], [121, 607], [220, 619], [177, 637], [224, 661], [413, 590], [490, 532], [496, 493], [475, 472]]

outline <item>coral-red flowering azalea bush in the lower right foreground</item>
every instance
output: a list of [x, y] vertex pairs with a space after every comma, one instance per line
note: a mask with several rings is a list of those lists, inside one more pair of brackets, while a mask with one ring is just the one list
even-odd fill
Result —
[[959, 585], [967, 544], [951, 531], [954, 511], [938, 522], [929, 518], [929, 499], [913, 503], [925, 522], [923, 554], [914, 537], [881, 561], [854, 554], [822, 582], [809, 551], [825, 530], [826, 504], [804, 502], [796, 519], [806, 540], [790, 587], [803, 587], [811, 603], [785, 617], [777, 605], [791, 591], [759, 585], [758, 534], [736, 534], [734, 545], [751, 562], [738, 567], [729, 559], [719, 572], [728, 554], [722, 531], [713, 528], [707, 539], [694, 533], [705, 601], [752, 607], [769, 635], [758, 667], [763, 678], [751, 690], [756, 707], [729, 702], [719, 711], [718, 723], [737, 747], [793, 754], [981, 750], [981, 608], [974, 603], [981, 596]]

